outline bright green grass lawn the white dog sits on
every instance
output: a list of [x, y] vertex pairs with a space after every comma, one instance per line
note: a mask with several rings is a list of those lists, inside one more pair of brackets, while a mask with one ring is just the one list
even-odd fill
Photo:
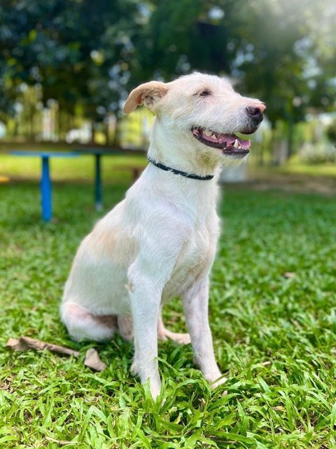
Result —
[[[106, 186], [106, 208], [127, 182]], [[0, 185], [0, 210], [0, 448], [336, 447], [335, 199], [225, 190], [209, 313], [229, 380], [211, 391], [190, 345], [160, 343], [163, 405], [130, 375], [132, 344], [71, 342], [59, 321], [71, 260], [99, 218], [92, 186], [56, 182], [48, 225], [34, 181]], [[166, 307], [172, 330], [180, 314], [179, 300]], [[80, 357], [5, 349], [20, 335]], [[102, 373], [83, 366], [89, 347]]]

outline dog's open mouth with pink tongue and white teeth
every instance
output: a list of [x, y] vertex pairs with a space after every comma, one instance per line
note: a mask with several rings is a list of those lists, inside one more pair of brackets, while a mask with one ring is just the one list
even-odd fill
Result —
[[221, 149], [225, 156], [244, 157], [249, 153], [251, 140], [243, 140], [235, 134], [221, 134], [196, 126], [191, 128], [191, 132], [195, 139], [208, 147]]

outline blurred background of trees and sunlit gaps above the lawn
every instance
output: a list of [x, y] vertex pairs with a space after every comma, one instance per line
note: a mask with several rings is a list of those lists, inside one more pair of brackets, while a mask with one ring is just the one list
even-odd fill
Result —
[[250, 173], [336, 175], [335, 22], [333, 0], [2, 0], [0, 151], [146, 149], [127, 93], [198, 70], [267, 104]]

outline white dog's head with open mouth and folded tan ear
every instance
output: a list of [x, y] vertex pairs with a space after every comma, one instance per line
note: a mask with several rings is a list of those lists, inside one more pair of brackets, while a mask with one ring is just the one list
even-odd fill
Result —
[[155, 112], [169, 133], [176, 133], [200, 152], [216, 159], [243, 159], [251, 145], [235, 133], [252, 134], [258, 129], [264, 103], [246, 98], [227, 79], [200, 73], [181, 76], [170, 83], [151, 81], [130, 93], [124, 112], [144, 104]]

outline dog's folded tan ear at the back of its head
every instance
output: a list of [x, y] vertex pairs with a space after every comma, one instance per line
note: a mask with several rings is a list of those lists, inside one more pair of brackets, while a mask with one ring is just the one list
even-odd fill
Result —
[[138, 106], [144, 104], [148, 109], [153, 110], [155, 103], [166, 95], [168, 88], [165, 83], [160, 81], [150, 81], [140, 84], [128, 96], [125, 105], [125, 114], [135, 111]]

